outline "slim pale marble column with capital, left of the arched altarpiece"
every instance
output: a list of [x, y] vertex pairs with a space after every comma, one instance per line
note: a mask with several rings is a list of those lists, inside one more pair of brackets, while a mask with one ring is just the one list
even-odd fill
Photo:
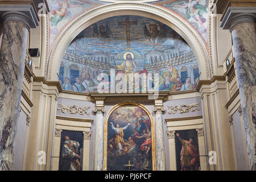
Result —
[[95, 135], [94, 135], [94, 159], [93, 170], [103, 170], [103, 151], [104, 151], [104, 117], [103, 113], [106, 111], [105, 107], [94, 107], [94, 113], [96, 113], [95, 123]]

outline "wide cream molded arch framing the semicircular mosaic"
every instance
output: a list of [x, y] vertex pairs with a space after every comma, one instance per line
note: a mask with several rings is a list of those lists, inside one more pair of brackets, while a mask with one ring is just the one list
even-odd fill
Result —
[[180, 16], [144, 3], [112, 3], [95, 7], [80, 14], [64, 28], [49, 53], [45, 70], [47, 80], [58, 80], [59, 67], [64, 52], [82, 30], [102, 19], [118, 15], [145, 16], [167, 24], [167, 26], [170, 26], [186, 40], [195, 53], [200, 68], [200, 80], [209, 80], [212, 77], [207, 48], [205, 48], [203, 40], [199, 38], [197, 32]]

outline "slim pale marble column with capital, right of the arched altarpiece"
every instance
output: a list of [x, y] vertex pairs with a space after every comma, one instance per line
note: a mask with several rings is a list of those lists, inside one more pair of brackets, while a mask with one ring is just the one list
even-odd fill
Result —
[[166, 154], [164, 147], [163, 112], [164, 106], [154, 106], [155, 111], [155, 157], [156, 170], [166, 170]]

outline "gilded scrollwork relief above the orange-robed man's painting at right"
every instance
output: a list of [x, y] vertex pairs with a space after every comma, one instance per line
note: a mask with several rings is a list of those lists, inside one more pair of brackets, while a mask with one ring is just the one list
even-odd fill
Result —
[[201, 106], [199, 103], [191, 104], [191, 105], [181, 105], [181, 106], [167, 106], [170, 111], [168, 114], [176, 114], [179, 111], [180, 114], [189, 113], [189, 111], [195, 112], [196, 110], [201, 110]]

